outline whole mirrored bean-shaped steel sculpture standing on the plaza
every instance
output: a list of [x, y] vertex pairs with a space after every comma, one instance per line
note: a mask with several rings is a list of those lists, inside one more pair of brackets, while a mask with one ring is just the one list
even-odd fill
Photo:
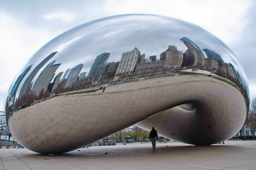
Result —
[[69, 152], [136, 124], [211, 145], [233, 137], [249, 98], [243, 67], [194, 24], [121, 15], [77, 26], [30, 58], [13, 79], [13, 137], [44, 154]]

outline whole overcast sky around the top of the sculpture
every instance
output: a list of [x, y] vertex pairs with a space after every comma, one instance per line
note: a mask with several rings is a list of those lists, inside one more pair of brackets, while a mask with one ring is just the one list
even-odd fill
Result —
[[0, 111], [11, 81], [45, 43], [82, 23], [124, 13], [182, 19], [230, 47], [256, 97], [256, 1], [253, 0], [0, 0]]

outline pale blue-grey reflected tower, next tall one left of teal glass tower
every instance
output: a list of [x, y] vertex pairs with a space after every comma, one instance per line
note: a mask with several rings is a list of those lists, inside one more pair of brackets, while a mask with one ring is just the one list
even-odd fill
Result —
[[72, 86], [78, 80], [78, 76], [84, 67], [84, 64], [78, 64], [76, 67], [70, 69], [69, 74], [67, 75], [67, 79], [65, 80], [65, 88]]

